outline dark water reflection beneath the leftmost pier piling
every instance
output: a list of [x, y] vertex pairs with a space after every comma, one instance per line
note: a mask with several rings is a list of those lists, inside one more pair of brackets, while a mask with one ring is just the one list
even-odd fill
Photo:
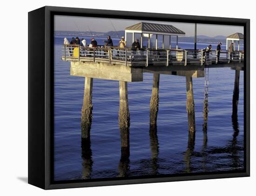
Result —
[[93, 160], [90, 138], [82, 138], [81, 140], [82, 149], [82, 179], [88, 179], [91, 176]]

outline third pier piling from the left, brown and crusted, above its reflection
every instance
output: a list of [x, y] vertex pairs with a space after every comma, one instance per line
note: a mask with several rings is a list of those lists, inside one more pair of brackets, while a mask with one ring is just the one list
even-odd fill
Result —
[[160, 74], [154, 73], [153, 75], [153, 87], [152, 87], [152, 96], [150, 100], [150, 125], [156, 126], [158, 105], [159, 105], [159, 79]]

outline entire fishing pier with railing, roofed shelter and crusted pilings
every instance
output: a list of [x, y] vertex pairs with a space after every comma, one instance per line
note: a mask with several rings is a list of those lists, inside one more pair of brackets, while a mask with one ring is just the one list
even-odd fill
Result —
[[[121, 156], [129, 156], [129, 126], [130, 113], [128, 106], [128, 82], [142, 82], [143, 73], [152, 73], [152, 95], [149, 105], [150, 130], [155, 130], [159, 105], [160, 75], [175, 75], [186, 78], [187, 113], [189, 134], [195, 134], [195, 103], [193, 94], [193, 78], [205, 78], [204, 95], [204, 127], [208, 119], [208, 85], [209, 69], [230, 67], [235, 70], [233, 115], [237, 116], [239, 77], [243, 71], [244, 53], [241, 50], [206, 52], [171, 47], [171, 37], [184, 33], [170, 26], [148, 25], [139, 23], [126, 29], [127, 47], [82, 47], [79, 45], [63, 45], [64, 61], [70, 62], [70, 75], [84, 77], [84, 99], [81, 115], [82, 141], [90, 143], [90, 129], [93, 111], [93, 79], [119, 81], [120, 109], [119, 127], [121, 134]], [[163, 30], [161, 30], [161, 27]], [[135, 29], [135, 30], [134, 30]], [[131, 34], [129, 34], [131, 33]], [[137, 33], [137, 34], [136, 34]], [[140, 50], [132, 50], [131, 43], [135, 39], [141, 41]], [[129, 41], [130, 39], [130, 41]], [[234, 39], [234, 38], [233, 38]], [[153, 41], [152, 41], [153, 40]], [[178, 40], [178, 39], [176, 39]], [[228, 41], [227, 41], [228, 42]], [[128, 44], [129, 43], [129, 44]], [[159, 48], [161, 45], [162, 48]], [[166, 48], [167, 47], [167, 48]], [[203, 97], [203, 96], [202, 96]], [[232, 115], [232, 116], [233, 116]]]

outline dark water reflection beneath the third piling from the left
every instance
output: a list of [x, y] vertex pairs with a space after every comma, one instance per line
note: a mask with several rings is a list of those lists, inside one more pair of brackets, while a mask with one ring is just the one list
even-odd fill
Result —
[[153, 170], [153, 174], [156, 175], [158, 170], [157, 159], [159, 155], [159, 143], [158, 143], [158, 137], [157, 137], [156, 124], [154, 125], [150, 124], [149, 137], [150, 137], [152, 170]]

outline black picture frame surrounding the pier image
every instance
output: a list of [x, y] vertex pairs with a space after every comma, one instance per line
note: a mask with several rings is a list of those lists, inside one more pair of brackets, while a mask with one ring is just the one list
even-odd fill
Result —
[[[244, 27], [244, 170], [204, 174], [157, 176], [154, 178], [53, 181], [53, 68], [54, 15], [90, 16], [118, 19], [161, 20]], [[40, 40], [40, 43], [39, 43]], [[141, 13], [71, 7], [41, 7], [28, 13], [28, 183], [42, 189], [107, 186], [135, 183], [157, 183], [250, 175], [250, 20], [190, 16], [163, 13]]]

